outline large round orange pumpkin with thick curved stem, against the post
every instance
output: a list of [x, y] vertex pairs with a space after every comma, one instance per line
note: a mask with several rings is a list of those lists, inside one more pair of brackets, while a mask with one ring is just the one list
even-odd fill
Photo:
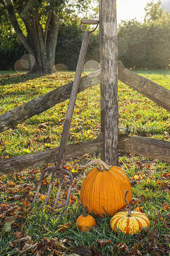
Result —
[[83, 180], [80, 198], [83, 207], [89, 212], [104, 217], [106, 212], [113, 216], [116, 212], [126, 206], [124, 201], [125, 190], [129, 190], [127, 201], [132, 200], [132, 189], [126, 173], [117, 166], [109, 166], [100, 159], [88, 162], [83, 168], [85, 170], [92, 164], [99, 164], [100, 168], [93, 168]]

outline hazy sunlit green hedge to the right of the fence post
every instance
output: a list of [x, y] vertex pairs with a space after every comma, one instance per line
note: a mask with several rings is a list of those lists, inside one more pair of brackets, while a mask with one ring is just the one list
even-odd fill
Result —
[[136, 20], [122, 22], [118, 50], [123, 50], [121, 40], [125, 40], [127, 49], [119, 59], [129, 68], [168, 68], [169, 25], [169, 18], [143, 24]]

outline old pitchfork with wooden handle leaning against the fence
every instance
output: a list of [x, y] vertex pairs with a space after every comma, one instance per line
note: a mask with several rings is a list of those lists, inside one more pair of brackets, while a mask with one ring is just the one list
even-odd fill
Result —
[[[82, 24], [88, 24], [88, 25], [95, 25], [96, 24], [96, 27], [92, 31], [87, 31], [87, 30], [84, 31], [82, 29]], [[42, 180], [44, 178], [44, 174], [47, 171], [52, 171], [52, 175], [51, 175], [51, 180], [50, 180], [50, 183], [49, 183], [48, 192], [47, 192], [47, 196], [46, 196], [44, 205], [47, 204], [48, 197], [49, 197], [51, 187], [52, 187], [52, 183], [53, 183], [53, 180], [54, 180], [55, 172], [61, 172], [61, 177], [60, 177], [59, 187], [58, 187], [58, 190], [57, 190], [57, 195], [55, 197], [54, 209], [56, 208], [58, 198], [59, 198], [59, 195], [60, 195], [60, 191], [61, 191], [61, 187], [62, 187], [62, 183], [63, 183], [63, 178], [64, 178], [64, 173], [68, 174], [70, 176], [70, 185], [69, 185], [69, 190], [68, 190], [68, 194], [67, 194], [67, 199], [66, 199], [66, 202], [65, 202], [65, 209], [68, 205], [69, 198], [70, 198], [71, 187], [72, 187], [72, 183], [73, 183], [73, 175], [68, 170], [63, 169], [63, 161], [64, 161], [64, 156], [65, 156], [65, 151], [66, 151], [66, 146], [67, 146], [67, 141], [68, 141], [68, 136], [69, 136], [69, 131], [70, 131], [71, 119], [72, 119], [72, 116], [73, 116], [74, 106], [75, 106], [75, 103], [76, 103], [78, 87], [79, 87], [79, 84], [80, 84], [81, 73], [82, 73], [82, 69], [83, 69], [83, 65], [84, 65], [84, 61], [85, 61], [85, 55], [86, 55], [86, 51], [87, 51], [88, 42], [89, 42], [89, 37], [90, 37], [90, 34], [96, 30], [98, 25], [99, 25], [98, 20], [81, 20], [80, 27], [81, 27], [81, 30], [84, 32], [84, 37], [83, 37], [83, 42], [82, 42], [82, 45], [81, 45], [81, 50], [80, 50], [80, 54], [79, 54], [79, 58], [78, 58], [78, 64], [77, 64], [77, 68], [76, 68], [76, 74], [75, 74], [75, 77], [74, 77], [74, 82], [73, 82], [73, 86], [72, 86], [72, 90], [71, 90], [71, 94], [70, 94], [69, 105], [68, 105], [68, 109], [67, 109], [67, 113], [66, 113], [66, 117], [65, 117], [65, 122], [64, 122], [64, 126], [63, 126], [63, 132], [62, 132], [60, 147], [59, 147], [59, 151], [58, 151], [57, 164], [56, 164], [55, 167], [48, 167], [42, 172], [41, 178], [40, 178], [40, 181], [39, 181], [39, 184], [38, 184], [38, 187], [37, 187], [34, 199], [33, 199], [31, 209], [33, 208], [33, 205], [35, 204], [36, 198], [37, 198], [38, 193], [40, 191]]]

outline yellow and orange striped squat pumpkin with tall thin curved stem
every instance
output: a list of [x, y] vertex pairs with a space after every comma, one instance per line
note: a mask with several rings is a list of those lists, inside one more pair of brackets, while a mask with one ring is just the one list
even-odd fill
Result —
[[[128, 190], [125, 194], [125, 202]], [[149, 219], [142, 212], [131, 211], [131, 205], [129, 206], [129, 212], [117, 212], [110, 220], [110, 227], [117, 232], [116, 227], [119, 228], [126, 235], [137, 233], [142, 227], [149, 227]]]

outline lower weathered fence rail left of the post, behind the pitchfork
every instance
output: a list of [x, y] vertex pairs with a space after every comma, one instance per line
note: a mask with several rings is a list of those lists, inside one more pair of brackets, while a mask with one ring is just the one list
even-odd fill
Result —
[[[129, 140], [127, 134], [119, 135], [119, 142]], [[100, 151], [103, 149], [103, 135], [100, 133], [95, 140], [86, 140], [67, 145], [64, 159], [75, 156], [82, 156], [87, 153]], [[5, 173], [18, 172], [36, 166], [55, 163], [58, 157], [59, 147], [50, 148], [43, 151], [0, 159], [0, 176]]]

